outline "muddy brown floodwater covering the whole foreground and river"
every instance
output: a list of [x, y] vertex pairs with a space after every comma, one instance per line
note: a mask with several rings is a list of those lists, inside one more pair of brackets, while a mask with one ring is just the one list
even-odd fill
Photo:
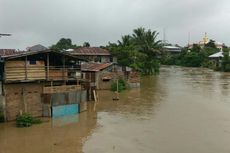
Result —
[[229, 153], [230, 73], [162, 67], [78, 116], [0, 124], [0, 153]]

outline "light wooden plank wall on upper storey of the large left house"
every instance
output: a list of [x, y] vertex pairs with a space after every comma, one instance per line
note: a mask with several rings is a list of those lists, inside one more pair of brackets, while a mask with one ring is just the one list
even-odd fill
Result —
[[5, 62], [5, 79], [7, 81], [26, 80], [26, 79], [40, 80], [45, 78], [46, 78], [46, 73], [45, 73], [44, 61], [36, 61], [35, 64], [30, 64], [29, 61], [27, 61], [27, 63], [25, 61]]

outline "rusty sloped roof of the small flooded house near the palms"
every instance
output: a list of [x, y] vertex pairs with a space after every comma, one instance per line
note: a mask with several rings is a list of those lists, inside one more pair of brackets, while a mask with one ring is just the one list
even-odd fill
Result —
[[109, 66], [113, 65], [113, 63], [86, 63], [81, 65], [82, 71], [100, 71]]

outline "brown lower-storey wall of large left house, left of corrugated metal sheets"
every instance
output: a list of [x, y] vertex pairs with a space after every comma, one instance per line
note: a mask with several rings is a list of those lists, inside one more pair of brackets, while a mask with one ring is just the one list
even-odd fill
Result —
[[30, 113], [34, 117], [42, 116], [42, 84], [6, 84], [5, 111], [6, 120], [15, 120], [20, 112]]

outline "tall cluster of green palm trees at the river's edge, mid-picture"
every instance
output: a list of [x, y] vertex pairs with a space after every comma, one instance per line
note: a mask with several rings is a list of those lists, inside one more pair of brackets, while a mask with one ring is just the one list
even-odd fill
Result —
[[124, 35], [116, 43], [109, 43], [107, 48], [118, 58], [118, 63], [151, 75], [159, 71], [161, 41], [157, 40], [156, 31], [137, 28], [132, 35]]

